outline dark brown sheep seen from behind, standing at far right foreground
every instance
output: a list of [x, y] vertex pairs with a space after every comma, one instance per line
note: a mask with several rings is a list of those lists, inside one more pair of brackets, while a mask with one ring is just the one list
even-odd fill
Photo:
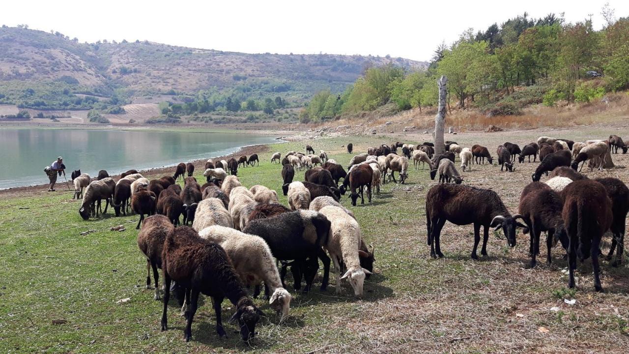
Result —
[[574, 288], [574, 269], [578, 257], [584, 261], [592, 256], [594, 289], [603, 291], [599, 278], [598, 253], [601, 237], [610, 229], [613, 214], [605, 187], [593, 180], [574, 181], [563, 191], [562, 216], [568, 233], [568, 287]]

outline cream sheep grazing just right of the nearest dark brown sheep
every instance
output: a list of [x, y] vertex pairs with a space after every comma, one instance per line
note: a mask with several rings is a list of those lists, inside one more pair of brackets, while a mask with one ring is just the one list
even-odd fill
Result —
[[257, 285], [264, 281], [270, 306], [282, 318], [289, 314], [292, 297], [282, 287], [273, 254], [264, 239], [223, 226], [207, 227], [199, 232], [199, 236], [225, 249], [245, 285]]

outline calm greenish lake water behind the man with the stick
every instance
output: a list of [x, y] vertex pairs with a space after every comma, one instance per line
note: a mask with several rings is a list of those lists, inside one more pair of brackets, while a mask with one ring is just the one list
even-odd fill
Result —
[[[243, 146], [272, 142], [277, 142], [272, 136], [250, 133], [0, 129], [0, 189], [47, 183], [43, 168], [57, 156], [64, 157], [70, 180], [74, 169], [92, 177], [101, 169], [113, 175], [224, 156]], [[65, 183], [63, 176], [59, 182]]]

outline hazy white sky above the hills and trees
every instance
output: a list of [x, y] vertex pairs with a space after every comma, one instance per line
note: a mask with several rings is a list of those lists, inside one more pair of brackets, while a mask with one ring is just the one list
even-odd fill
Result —
[[[145, 1], [4, 0], [0, 24], [60, 31], [81, 42], [152, 42], [248, 53], [372, 54], [430, 59], [439, 43], [467, 28], [485, 30], [517, 14], [592, 14], [603, 24], [607, 0], [528, 1]], [[629, 1], [610, 0], [616, 17]], [[443, 6], [443, 7], [442, 7]]]

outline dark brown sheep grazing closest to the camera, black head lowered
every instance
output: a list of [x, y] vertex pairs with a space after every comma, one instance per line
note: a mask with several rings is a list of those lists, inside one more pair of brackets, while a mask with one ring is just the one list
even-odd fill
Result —
[[[199, 293], [213, 298], [216, 332], [220, 338], [227, 337], [221, 322], [221, 303], [225, 297], [236, 307], [230, 322], [238, 320], [240, 339], [248, 341], [255, 336], [255, 324], [264, 313], [248, 297], [229, 256], [219, 244], [202, 239], [190, 227], [175, 228], [164, 241], [162, 273], [166, 289], [170, 288], [171, 280], [185, 288], [187, 323], [184, 340], [192, 338], [192, 319], [197, 311]], [[162, 331], [168, 328], [166, 314], [169, 298], [170, 292], [165, 291]]]

